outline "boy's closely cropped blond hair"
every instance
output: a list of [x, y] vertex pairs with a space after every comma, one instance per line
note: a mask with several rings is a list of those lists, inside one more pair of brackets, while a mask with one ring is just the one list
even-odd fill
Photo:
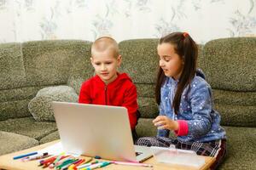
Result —
[[119, 44], [112, 37], [99, 37], [91, 45], [91, 55], [96, 52], [111, 51], [113, 57], [119, 56]]

